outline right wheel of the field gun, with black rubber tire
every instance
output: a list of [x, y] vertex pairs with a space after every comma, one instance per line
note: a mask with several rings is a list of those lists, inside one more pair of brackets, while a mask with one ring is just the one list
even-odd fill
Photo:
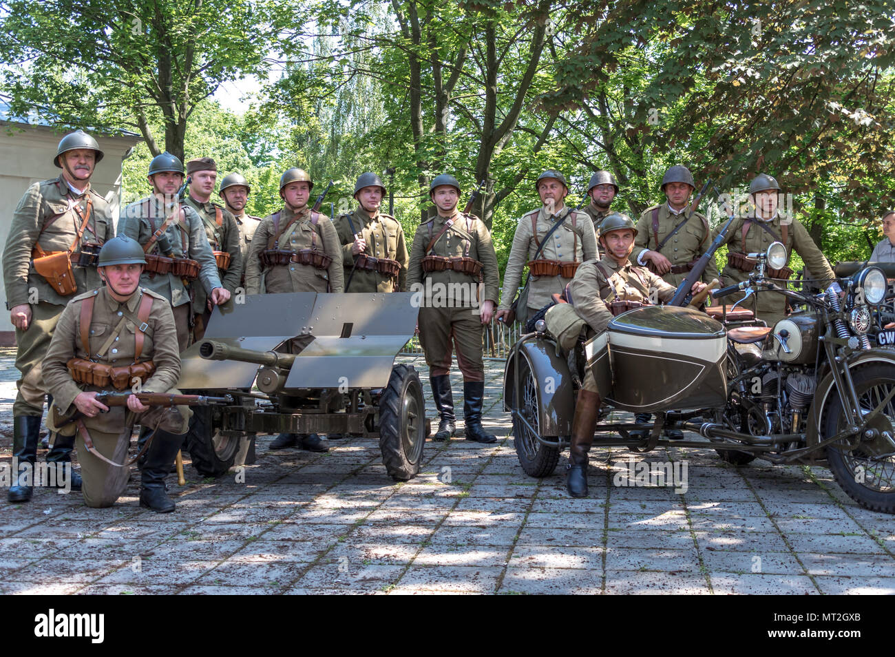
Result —
[[[426, 443], [425, 420], [426, 399], [419, 373], [412, 365], [394, 365], [388, 387], [379, 398], [379, 450], [386, 472], [396, 482], [409, 481], [420, 472]], [[411, 442], [409, 453], [405, 433]]]

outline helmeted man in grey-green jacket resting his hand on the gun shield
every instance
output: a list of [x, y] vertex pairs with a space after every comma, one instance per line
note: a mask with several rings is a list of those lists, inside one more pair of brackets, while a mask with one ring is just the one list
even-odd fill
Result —
[[[230, 292], [217, 275], [215, 256], [202, 220], [176, 192], [183, 184], [183, 163], [162, 153], [149, 163], [152, 194], [124, 209], [118, 234], [139, 242], [147, 253], [140, 285], [164, 296], [174, 311], [177, 345], [183, 352], [192, 338], [192, 294], [202, 288], [212, 303], [226, 303]], [[199, 285], [192, 283], [199, 279]]]

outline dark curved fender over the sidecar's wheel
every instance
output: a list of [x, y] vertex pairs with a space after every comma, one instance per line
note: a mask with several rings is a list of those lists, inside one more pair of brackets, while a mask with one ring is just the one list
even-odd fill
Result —
[[504, 370], [504, 410], [510, 411], [514, 395], [516, 365], [524, 358], [538, 382], [538, 408], [541, 437], [572, 435], [575, 417], [575, 391], [568, 363], [556, 354], [556, 344], [551, 340], [533, 338], [519, 345], [507, 358]]

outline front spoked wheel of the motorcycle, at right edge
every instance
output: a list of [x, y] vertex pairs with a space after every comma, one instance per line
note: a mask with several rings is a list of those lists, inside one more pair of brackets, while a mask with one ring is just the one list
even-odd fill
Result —
[[[895, 366], [873, 363], [854, 371], [852, 379], [861, 411], [870, 414], [895, 387]], [[824, 436], [835, 435], [846, 426], [842, 403], [835, 390], [830, 393], [824, 416]], [[882, 409], [879, 423], [888, 427], [895, 422], [895, 399]], [[895, 514], [895, 454], [871, 456], [860, 449], [860, 438], [845, 439], [849, 448], [827, 448], [830, 471], [848, 497], [872, 511]]]

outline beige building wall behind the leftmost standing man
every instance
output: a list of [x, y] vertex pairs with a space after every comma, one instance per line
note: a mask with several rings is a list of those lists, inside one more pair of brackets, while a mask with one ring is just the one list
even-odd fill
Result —
[[[56, 178], [61, 169], [53, 165], [56, 147], [64, 133], [44, 126], [0, 122], [0, 244], [6, 243], [13, 212], [31, 183]], [[96, 136], [96, 135], [94, 135]], [[140, 141], [139, 137], [97, 137], [105, 157], [90, 179], [93, 188], [106, 197], [118, 225], [121, 201], [122, 159]], [[0, 345], [15, 344], [13, 324], [5, 311], [6, 291], [0, 288]]]

